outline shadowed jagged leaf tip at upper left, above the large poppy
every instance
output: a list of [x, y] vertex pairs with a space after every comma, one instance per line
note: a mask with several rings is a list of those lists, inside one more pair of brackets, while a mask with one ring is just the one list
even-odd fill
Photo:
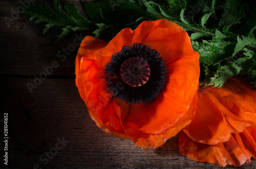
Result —
[[54, 9], [52, 10], [45, 2], [36, 1], [34, 6], [25, 10], [25, 14], [31, 16], [30, 20], [35, 23], [46, 23], [45, 29], [42, 31], [43, 36], [51, 28], [58, 28], [61, 33], [55, 40], [73, 31], [90, 30], [95, 27], [91, 21], [80, 15], [72, 3], [66, 3], [61, 7], [59, 1], [55, 0]]

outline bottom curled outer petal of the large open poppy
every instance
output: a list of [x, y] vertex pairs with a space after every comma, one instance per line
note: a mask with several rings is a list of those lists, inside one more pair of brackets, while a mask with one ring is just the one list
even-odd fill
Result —
[[[173, 126], [168, 127], [167, 124], [165, 126], [165, 130], [162, 130], [158, 134], [151, 134], [144, 133], [129, 126], [129, 120], [126, 118], [127, 114], [130, 113], [129, 105], [118, 98], [114, 99], [114, 108], [117, 112], [118, 117], [122, 120], [122, 126], [125, 133], [133, 140], [134, 144], [143, 149], [157, 148], [159, 146], [162, 146], [162, 144], [164, 144], [167, 139], [175, 136], [182, 128], [184, 128], [184, 126], [188, 125], [191, 122], [191, 119], [193, 119], [195, 115], [196, 106], [197, 94], [195, 94], [188, 111], [183, 116], [180, 116], [179, 119], [177, 119], [177, 121], [173, 124]], [[122, 109], [124, 107], [126, 109]]]

